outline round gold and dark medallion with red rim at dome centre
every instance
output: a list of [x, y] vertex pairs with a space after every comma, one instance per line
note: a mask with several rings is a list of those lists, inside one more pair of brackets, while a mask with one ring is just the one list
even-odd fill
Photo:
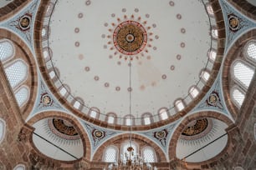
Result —
[[115, 28], [113, 41], [119, 52], [125, 55], [135, 55], [146, 47], [146, 29], [141, 23], [125, 21]]

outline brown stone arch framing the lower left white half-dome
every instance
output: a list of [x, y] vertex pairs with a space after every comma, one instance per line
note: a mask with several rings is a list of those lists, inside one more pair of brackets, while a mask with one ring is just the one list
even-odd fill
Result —
[[[29, 119], [27, 123], [28, 123], [28, 125], [30, 125], [32, 127], [35, 122], [38, 122], [39, 120], [43, 120], [44, 118], [49, 118], [49, 117], [62, 118], [64, 120], [68, 120], [69, 122], [71, 122], [74, 125], [74, 127], [80, 134], [80, 137], [82, 139], [82, 143], [84, 146], [83, 158], [90, 160], [90, 150], [91, 150], [90, 138], [88, 137], [87, 133], [85, 132], [84, 127], [81, 125], [81, 123], [75, 117], [73, 117], [67, 113], [64, 113], [64, 112], [57, 112], [57, 111], [40, 112], [37, 115], [35, 115], [34, 117], [32, 117], [31, 119]], [[33, 141], [31, 141], [31, 143], [33, 143]], [[35, 148], [35, 146], [33, 146], [33, 148], [37, 149], [37, 148]], [[40, 153], [40, 152], [38, 151], [38, 153]]]

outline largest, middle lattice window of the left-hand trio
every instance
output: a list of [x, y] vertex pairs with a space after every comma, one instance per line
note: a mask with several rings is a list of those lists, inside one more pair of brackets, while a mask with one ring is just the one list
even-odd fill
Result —
[[11, 87], [17, 87], [27, 79], [28, 76], [28, 66], [23, 60], [17, 60], [13, 62], [10, 66], [6, 67], [5, 73], [8, 77], [8, 81]]

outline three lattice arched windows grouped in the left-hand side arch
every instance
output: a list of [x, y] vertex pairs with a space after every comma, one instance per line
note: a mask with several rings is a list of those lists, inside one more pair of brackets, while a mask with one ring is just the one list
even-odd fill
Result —
[[8, 39], [0, 39], [0, 61], [18, 106], [23, 107], [29, 97], [29, 88], [24, 84], [28, 78], [28, 65], [23, 59], [16, 57], [13, 42]]

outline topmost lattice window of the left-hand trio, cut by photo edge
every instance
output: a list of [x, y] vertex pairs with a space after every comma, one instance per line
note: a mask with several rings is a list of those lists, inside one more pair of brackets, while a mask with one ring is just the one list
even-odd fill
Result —
[[13, 57], [14, 53], [15, 51], [12, 42], [8, 41], [7, 39], [0, 40], [0, 60], [2, 62]]

